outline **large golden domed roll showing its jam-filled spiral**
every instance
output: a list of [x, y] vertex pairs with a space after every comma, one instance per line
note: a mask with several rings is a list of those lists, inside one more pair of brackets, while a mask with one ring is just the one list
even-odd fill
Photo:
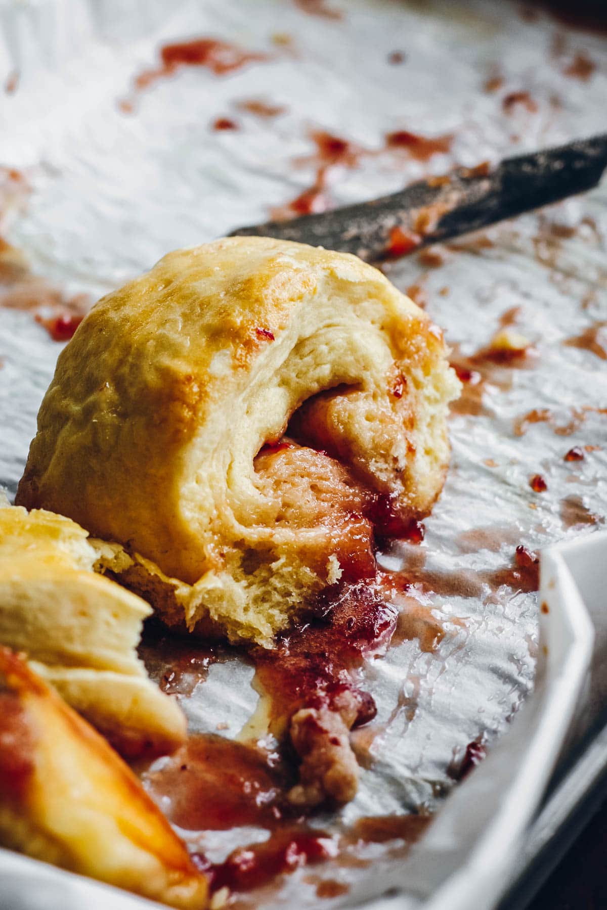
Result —
[[430, 511], [459, 388], [440, 330], [377, 269], [218, 240], [92, 309], [59, 356], [18, 501], [124, 545], [126, 581], [167, 622], [268, 644], [370, 571], [373, 528]]

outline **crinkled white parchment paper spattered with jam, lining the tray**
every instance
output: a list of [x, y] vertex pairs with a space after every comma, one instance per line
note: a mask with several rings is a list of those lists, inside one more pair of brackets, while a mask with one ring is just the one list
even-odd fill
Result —
[[[472, 167], [602, 125], [607, 45], [598, 37], [564, 33], [546, 15], [530, 22], [515, 4], [326, 5], [342, 17], [307, 15], [278, 0], [157, 0], [145, 12], [76, 0], [0, 5], [0, 63], [6, 76], [20, 74], [15, 92], [0, 99], [0, 164], [23, 171], [32, 187], [23, 211], [5, 212], [5, 238], [25, 251], [35, 274], [69, 295], [96, 298], [167, 250], [266, 220], [269, 208], [309, 187], [310, 128], [378, 152], [397, 129], [454, 136], [449, 154], [428, 161], [379, 153], [334, 168], [330, 194], [344, 204], [455, 163]], [[134, 94], [135, 76], [157, 66], [160, 45], [199, 35], [268, 59], [226, 76], [184, 67]], [[394, 51], [403, 63], [389, 63]], [[579, 52], [596, 64], [585, 81], [566, 75]], [[491, 79], [503, 81], [490, 91]], [[531, 103], [504, 106], [505, 96], [521, 91]], [[130, 113], [120, 107], [125, 98], [134, 102]], [[243, 112], [238, 103], [250, 98], [285, 111], [268, 118]], [[214, 131], [218, 116], [239, 128]], [[390, 567], [407, 569], [423, 551], [420, 586], [426, 580], [448, 591], [423, 595], [446, 634], [437, 652], [405, 641], [369, 662], [365, 686], [378, 704], [378, 733], [367, 741], [358, 734], [369, 767], [356, 799], [319, 819], [325, 830], [365, 815], [436, 810], [452, 786], [454, 758], [481, 733], [490, 740], [503, 733], [531, 690], [536, 595], [491, 584], [491, 576], [499, 582], [495, 573], [511, 566], [518, 544], [537, 550], [592, 531], [607, 515], [601, 337], [595, 351], [565, 343], [607, 319], [606, 200], [598, 189], [492, 228], [491, 244], [447, 249], [438, 268], [418, 258], [386, 268], [398, 287], [422, 288], [458, 357], [486, 347], [513, 308], [517, 332], [537, 355], [530, 369], [491, 373], [481, 414], [454, 414], [450, 474], [426, 539], [389, 557]], [[0, 482], [13, 493], [58, 350], [31, 312], [0, 308]], [[521, 423], [531, 410], [550, 414]], [[573, 446], [592, 450], [582, 461], [563, 460]], [[534, 474], [545, 478], [545, 492], [531, 490]], [[237, 658], [213, 665], [184, 700], [192, 728], [215, 733], [227, 722], [225, 735], [236, 736], [256, 708], [251, 676]], [[246, 829], [187, 833], [187, 840], [220, 861], [262, 836]], [[379, 894], [401, 862], [382, 845], [363, 854], [373, 859], [372, 874], [330, 872], [359, 882], [344, 901]], [[305, 877], [306, 870], [290, 876], [264, 906], [292, 905], [295, 895], [299, 906], [315, 904]], [[408, 906], [423, 893], [418, 885], [410, 869]]]

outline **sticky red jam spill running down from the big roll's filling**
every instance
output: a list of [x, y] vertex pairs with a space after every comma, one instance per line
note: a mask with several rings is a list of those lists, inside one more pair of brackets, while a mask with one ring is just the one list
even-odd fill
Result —
[[[305, 422], [301, 424], [304, 430], [305, 426]], [[312, 467], [317, 465], [319, 471], [322, 460], [335, 465], [326, 451], [283, 438], [264, 447], [256, 459], [256, 470], [266, 471], [276, 480], [281, 476], [280, 463], [292, 472], [292, 462], [298, 458]], [[194, 854], [215, 893], [228, 889], [238, 895], [270, 883], [273, 886], [281, 875], [301, 866], [324, 863], [328, 869], [333, 864], [360, 862], [356, 852], [360, 843], [394, 841], [398, 847], [390, 850], [406, 851], [428, 824], [428, 817], [368, 818], [340, 836], [327, 834], [313, 824], [319, 809], [326, 811], [342, 800], [339, 791], [331, 791], [324, 784], [318, 798], [309, 797], [313, 791], [305, 780], [309, 753], [301, 750], [300, 743], [309, 736], [313, 745], [320, 743], [325, 757], [332, 748], [341, 750], [339, 762], [345, 749], [345, 776], [351, 771], [351, 763], [358, 769], [352, 745], [360, 735], [372, 733], [369, 722], [377, 713], [371, 694], [363, 688], [365, 665], [390, 646], [411, 639], [417, 639], [424, 652], [439, 648], [445, 630], [432, 612], [429, 594], [478, 597], [486, 594], [487, 586], [497, 591], [504, 585], [521, 591], [537, 589], [538, 559], [521, 545], [512, 550], [511, 565], [491, 577], [471, 573], [474, 577], [464, 579], [462, 588], [461, 571], [440, 574], [426, 569], [420, 521], [405, 521], [389, 496], [370, 491], [368, 495], [358, 491], [357, 495], [362, 495], [360, 513], [349, 517], [350, 524], [356, 519], [357, 540], [342, 544], [341, 578], [321, 591], [305, 618], [282, 632], [273, 648], [209, 647], [167, 633], [159, 641], [146, 636], [140, 648], [150, 675], [168, 693], [192, 693], [206, 678], [209, 666], [229, 659], [235, 650], [255, 668], [253, 685], [267, 709], [268, 730], [273, 737], [235, 742], [218, 733], [192, 734], [177, 753], [139, 769], [148, 793], [182, 831], [227, 831], [247, 826], [268, 831], [266, 841], [238, 847], [221, 863], [210, 862], [200, 852]], [[336, 515], [339, 510], [331, 508], [329, 512]], [[348, 533], [345, 528], [341, 536], [346, 538]], [[409, 555], [402, 573], [379, 568], [375, 551], [384, 538], [406, 541]], [[336, 723], [331, 726], [328, 718]], [[350, 742], [351, 731], [356, 733]], [[469, 752], [459, 773], [470, 770], [483, 754], [475, 747]], [[304, 798], [300, 799], [301, 792]], [[317, 880], [324, 892], [324, 885]], [[327, 890], [331, 891], [330, 885]]]

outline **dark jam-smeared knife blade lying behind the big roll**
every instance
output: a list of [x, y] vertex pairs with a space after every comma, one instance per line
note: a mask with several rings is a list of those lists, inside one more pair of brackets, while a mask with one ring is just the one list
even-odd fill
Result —
[[460, 167], [398, 193], [290, 221], [239, 227], [230, 236], [298, 240], [368, 262], [406, 255], [595, 187], [607, 167], [607, 134]]

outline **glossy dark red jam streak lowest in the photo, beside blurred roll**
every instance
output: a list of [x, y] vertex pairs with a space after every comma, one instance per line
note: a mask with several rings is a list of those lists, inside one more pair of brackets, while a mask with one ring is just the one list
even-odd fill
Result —
[[228, 887], [238, 892], [258, 888], [276, 875], [319, 863], [337, 853], [338, 844], [328, 834], [287, 827], [278, 828], [263, 844], [238, 847], [224, 863], [211, 864], [202, 854], [192, 858], [207, 875], [212, 891]]

